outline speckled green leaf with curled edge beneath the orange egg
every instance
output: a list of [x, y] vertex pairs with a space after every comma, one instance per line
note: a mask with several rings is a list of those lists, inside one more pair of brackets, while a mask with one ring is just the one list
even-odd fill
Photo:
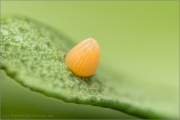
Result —
[[75, 76], [64, 62], [74, 45], [60, 32], [30, 18], [1, 20], [1, 69], [21, 85], [66, 102], [143, 118], [178, 118], [178, 101], [171, 91], [160, 90], [165, 86], [116, 73], [105, 65], [92, 77]]

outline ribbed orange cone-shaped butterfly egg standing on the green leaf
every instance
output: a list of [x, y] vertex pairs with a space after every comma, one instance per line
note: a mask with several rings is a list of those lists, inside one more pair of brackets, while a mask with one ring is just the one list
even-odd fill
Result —
[[96, 40], [88, 38], [73, 47], [66, 55], [66, 65], [80, 77], [95, 73], [100, 58], [100, 48]]

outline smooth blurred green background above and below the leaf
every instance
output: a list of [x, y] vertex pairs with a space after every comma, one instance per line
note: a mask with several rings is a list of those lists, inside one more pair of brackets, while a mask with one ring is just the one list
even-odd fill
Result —
[[[165, 92], [165, 98], [170, 96], [172, 102], [179, 103], [178, 1], [2, 1], [1, 16], [11, 15], [41, 21], [76, 43], [95, 38], [101, 48], [100, 65], [140, 78], [142, 83], [154, 84]], [[4, 72], [1, 73], [1, 107], [4, 118], [13, 114], [134, 118], [107, 108], [45, 97], [20, 86]], [[171, 109], [178, 111], [178, 108]]]

